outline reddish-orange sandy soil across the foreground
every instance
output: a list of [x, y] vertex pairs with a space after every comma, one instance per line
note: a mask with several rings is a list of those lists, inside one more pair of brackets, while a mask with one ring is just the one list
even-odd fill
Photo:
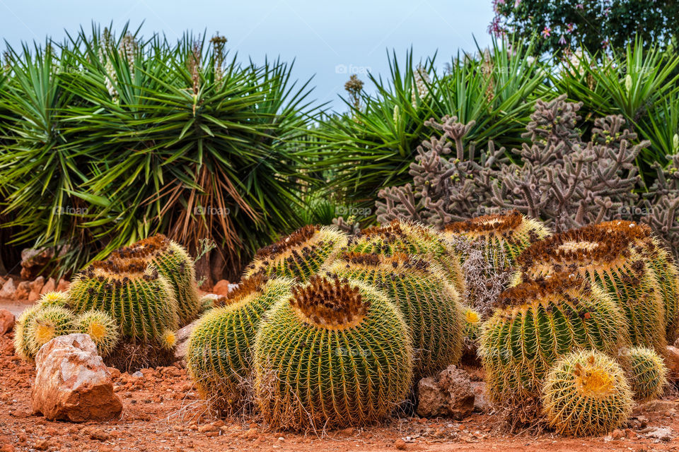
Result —
[[[0, 304], [0, 307], [6, 307]], [[252, 420], [217, 420], [206, 414], [185, 369], [144, 369], [115, 376], [122, 419], [72, 424], [33, 415], [35, 369], [0, 336], [0, 452], [13, 451], [679, 451], [679, 438], [646, 437], [654, 427], [679, 432], [679, 400], [666, 397], [637, 412], [621, 439], [573, 439], [556, 434], [506, 434], [493, 415], [463, 422], [407, 418], [381, 426], [325, 434], [275, 432]]]

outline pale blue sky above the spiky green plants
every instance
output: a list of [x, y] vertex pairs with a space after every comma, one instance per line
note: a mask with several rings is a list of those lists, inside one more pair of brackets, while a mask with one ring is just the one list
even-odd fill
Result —
[[170, 39], [185, 30], [219, 31], [243, 59], [295, 59], [297, 78], [314, 76], [313, 97], [344, 109], [337, 95], [352, 71], [364, 81], [367, 70], [388, 73], [386, 51], [405, 57], [411, 46], [416, 59], [438, 50], [441, 67], [458, 49], [474, 51], [474, 37], [489, 43], [492, 15], [490, 0], [0, 0], [0, 37], [15, 47], [46, 36], [61, 41], [64, 30], [88, 30], [93, 21], [114, 29], [144, 22], [143, 35], [164, 32]]

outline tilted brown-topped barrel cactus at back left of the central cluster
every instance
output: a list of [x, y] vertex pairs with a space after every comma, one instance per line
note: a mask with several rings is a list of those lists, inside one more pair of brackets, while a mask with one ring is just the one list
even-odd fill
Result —
[[302, 227], [284, 239], [260, 249], [245, 268], [245, 278], [267, 276], [306, 280], [332, 261], [347, 244], [347, 234], [335, 227]]

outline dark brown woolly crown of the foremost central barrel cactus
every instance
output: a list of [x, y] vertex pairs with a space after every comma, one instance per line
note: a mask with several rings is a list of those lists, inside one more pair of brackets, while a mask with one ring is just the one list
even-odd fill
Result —
[[330, 330], [356, 326], [370, 308], [348, 280], [317, 275], [309, 278], [308, 285], [293, 287], [290, 304], [308, 323]]

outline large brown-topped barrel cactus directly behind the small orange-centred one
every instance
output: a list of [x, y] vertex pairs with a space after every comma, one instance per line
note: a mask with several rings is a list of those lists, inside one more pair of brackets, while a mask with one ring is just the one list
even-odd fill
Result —
[[574, 350], [620, 356], [628, 345], [625, 324], [606, 292], [580, 276], [556, 273], [511, 287], [480, 340], [490, 398], [537, 398], [552, 364]]

